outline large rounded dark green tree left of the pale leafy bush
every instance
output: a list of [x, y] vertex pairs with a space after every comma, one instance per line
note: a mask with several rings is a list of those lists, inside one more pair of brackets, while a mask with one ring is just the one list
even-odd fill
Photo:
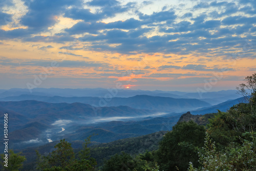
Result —
[[198, 147], [204, 144], [205, 127], [194, 121], [178, 122], [159, 143], [157, 162], [161, 170], [186, 170], [189, 161], [198, 165]]

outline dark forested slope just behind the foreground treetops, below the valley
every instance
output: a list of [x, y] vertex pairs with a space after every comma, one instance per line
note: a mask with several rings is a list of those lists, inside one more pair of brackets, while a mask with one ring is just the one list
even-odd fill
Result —
[[[104, 160], [110, 159], [110, 157], [112, 155], [115, 155], [116, 153], [125, 152], [129, 153], [130, 155], [136, 155], [144, 153], [146, 150], [153, 151], [158, 149], [158, 143], [165, 133], [166, 131], [161, 131], [144, 136], [125, 138], [101, 144], [92, 142], [90, 145], [91, 157], [96, 159], [98, 165], [101, 165]], [[79, 148], [81, 148], [83, 144], [83, 141], [81, 140], [70, 142], [72, 143], [72, 147], [75, 148], [75, 152], [78, 152]], [[24, 168], [22, 170], [34, 169], [36, 161], [36, 149], [39, 151], [40, 154], [47, 155], [54, 149], [54, 145], [56, 145], [57, 143], [57, 141], [54, 141], [39, 147], [29, 147], [23, 149], [22, 152], [23, 155], [26, 156], [27, 161], [24, 162]]]

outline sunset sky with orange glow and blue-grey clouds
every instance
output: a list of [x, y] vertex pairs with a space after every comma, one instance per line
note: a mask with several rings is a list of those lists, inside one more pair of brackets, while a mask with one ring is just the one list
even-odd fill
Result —
[[0, 89], [235, 89], [256, 1], [1, 0]]

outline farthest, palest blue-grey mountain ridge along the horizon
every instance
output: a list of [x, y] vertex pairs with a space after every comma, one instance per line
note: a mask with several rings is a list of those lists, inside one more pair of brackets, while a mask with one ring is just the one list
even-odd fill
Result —
[[[236, 99], [241, 95], [236, 94], [237, 90], [226, 90], [218, 92], [179, 92], [179, 91], [146, 91], [146, 90], [130, 90], [130, 89], [58, 89], [58, 88], [36, 88], [36, 89], [10, 89], [0, 90], [0, 98], [8, 96], [40, 95], [40, 96], [61, 96], [61, 97], [104, 97], [111, 94], [112, 97], [133, 97], [136, 95], [149, 95], [172, 98], [196, 98], [211, 104], [218, 104], [229, 99]], [[204, 100], [205, 99], [205, 100]], [[210, 101], [209, 101], [210, 99]]]

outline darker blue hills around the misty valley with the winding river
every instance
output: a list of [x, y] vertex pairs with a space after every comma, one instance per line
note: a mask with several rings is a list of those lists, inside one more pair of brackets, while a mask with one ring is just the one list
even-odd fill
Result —
[[[149, 110], [138, 110], [129, 106], [96, 108], [83, 103], [47, 103], [35, 100], [1, 101], [0, 113], [9, 114], [9, 137], [15, 148], [23, 148], [47, 143], [47, 138], [83, 140], [90, 135], [97, 142], [110, 142], [117, 139], [151, 134], [159, 130], [171, 130], [179, 116], [150, 118], [137, 121], [111, 121], [97, 124], [94, 118], [109, 116], [134, 116], [135, 118], [152, 114]], [[107, 117], [108, 116], [108, 117]], [[113, 118], [115, 119], [115, 118]], [[0, 123], [1, 129], [4, 127]], [[61, 127], [65, 131], [61, 133]], [[3, 130], [2, 130], [3, 131]], [[10, 144], [11, 145], [11, 144]]]

